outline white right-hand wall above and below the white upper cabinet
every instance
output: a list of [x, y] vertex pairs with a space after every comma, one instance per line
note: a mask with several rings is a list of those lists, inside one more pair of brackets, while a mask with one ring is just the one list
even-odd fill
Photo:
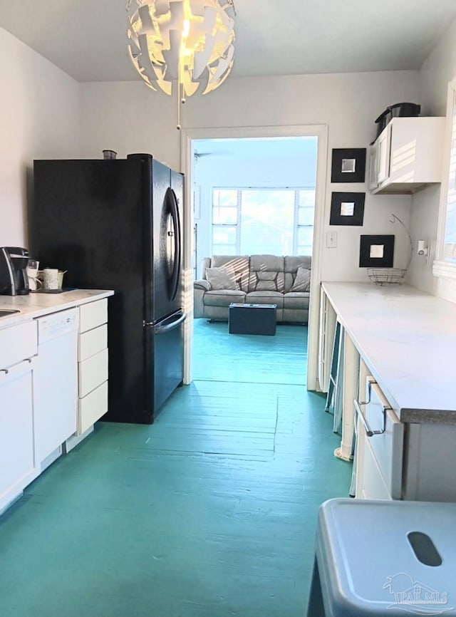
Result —
[[[447, 84], [456, 74], [456, 20], [426, 59], [420, 71], [420, 100], [422, 115], [446, 115]], [[430, 264], [423, 257], [413, 255], [410, 268], [410, 284], [456, 301], [455, 285], [432, 276], [432, 259], [435, 256], [437, 220], [440, 202], [440, 185], [429, 187], [413, 196], [411, 209], [412, 235], [416, 245], [418, 239], [430, 242]]]

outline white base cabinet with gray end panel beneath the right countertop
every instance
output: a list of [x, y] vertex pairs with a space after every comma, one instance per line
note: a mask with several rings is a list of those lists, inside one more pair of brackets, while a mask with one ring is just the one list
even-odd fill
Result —
[[374, 378], [361, 383], [356, 497], [456, 502], [456, 425], [400, 422]]

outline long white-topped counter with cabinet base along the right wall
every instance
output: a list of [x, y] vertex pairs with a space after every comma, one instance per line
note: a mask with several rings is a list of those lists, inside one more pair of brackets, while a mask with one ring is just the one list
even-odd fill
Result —
[[456, 502], [456, 304], [406, 285], [321, 287], [322, 321], [341, 326], [335, 454], [348, 460], [356, 425], [355, 496]]

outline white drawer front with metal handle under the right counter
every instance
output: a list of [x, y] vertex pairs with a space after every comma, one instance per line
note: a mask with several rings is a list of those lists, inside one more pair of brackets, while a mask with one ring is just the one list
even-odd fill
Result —
[[367, 403], [361, 404], [361, 420], [365, 420], [377, 435], [366, 435], [372, 455], [390, 496], [400, 499], [402, 493], [403, 424], [398, 420], [390, 403], [370, 375], [366, 378]]

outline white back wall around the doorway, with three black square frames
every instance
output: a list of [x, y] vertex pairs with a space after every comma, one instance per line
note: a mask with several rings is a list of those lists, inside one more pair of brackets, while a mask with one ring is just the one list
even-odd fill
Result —
[[[207, 96], [187, 100], [182, 108], [185, 128], [328, 125], [328, 180], [333, 147], [368, 147], [375, 138], [374, 120], [390, 104], [420, 102], [417, 71], [349, 73], [279, 78], [229, 78]], [[83, 156], [100, 157], [103, 148], [119, 155], [151, 152], [180, 168], [180, 132], [176, 130], [176, 101], [152, 92], [143, 83], [81, 84]], [[330, 229], [331, 191], [366, 192], [363, 227], [336, 227], [338, 247], [324, 249], [322, 278], [366, 280], [358, 267], [360, 234], [395, 234], [395, 266], [407, 258], [408, 240], [391, 212], [410, 223], [410, 197], [368, 195], [366, 184], [327, 182], [325, 229]]]

